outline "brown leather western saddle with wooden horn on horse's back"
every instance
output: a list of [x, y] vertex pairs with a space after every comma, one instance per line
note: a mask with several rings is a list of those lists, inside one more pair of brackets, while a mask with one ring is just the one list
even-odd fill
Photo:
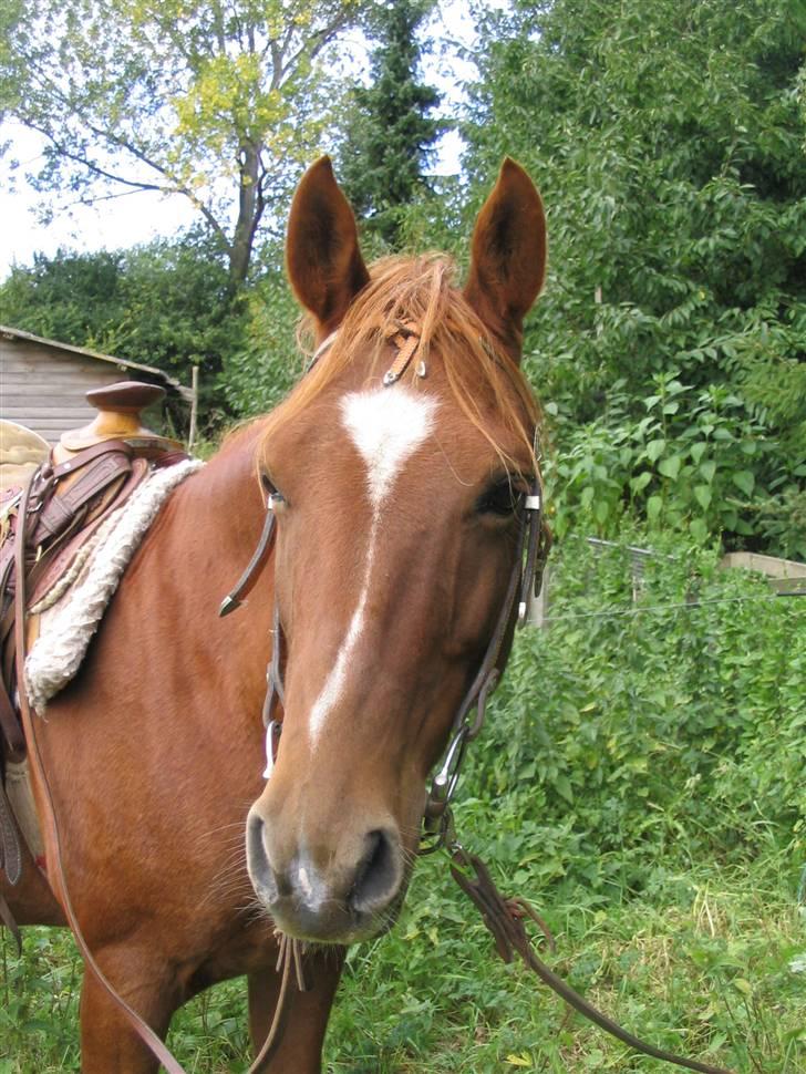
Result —
[[[18, 546], [30, 648], [40, 602], [55, 587], [66, 591], [86, 541], [155, 467], [187, 458], [180, 444], [141, 422], [141, 412], [164, 394], [162, 388], [136, 381], [87, 392], [99, 411], [94, 421], [64, 433], [23, 487], [0, 489], [0, 868], [11, 884], [19, 880], [21, 855], [6, 789], [27, 752], [16, 703]], [[30, 454], [30, 438], [28, 444]]]

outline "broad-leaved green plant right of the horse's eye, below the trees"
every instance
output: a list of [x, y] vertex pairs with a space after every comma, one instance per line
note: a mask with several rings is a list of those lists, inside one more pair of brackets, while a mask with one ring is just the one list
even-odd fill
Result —
[[693, 389], [676, 371], [659, 373], [636, 419], [626, 389], [617, 381], [606, 414], [572, 428], [548, 462], [558, 535], [578, 524], [608, 536], [632, 510], [650, 529], [683, 530], [700, 544], [753, 537], [772, 445], [744, 401], [719, 385]]

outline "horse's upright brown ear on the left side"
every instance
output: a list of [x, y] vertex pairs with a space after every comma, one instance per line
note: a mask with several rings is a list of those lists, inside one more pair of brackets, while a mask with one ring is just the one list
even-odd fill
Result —
[[294, 295], [324, 333], [339, 326], [370, 279], [355, 217], [328, 156], [312, 164], [297, 187], [288, 220], [286, 267]]

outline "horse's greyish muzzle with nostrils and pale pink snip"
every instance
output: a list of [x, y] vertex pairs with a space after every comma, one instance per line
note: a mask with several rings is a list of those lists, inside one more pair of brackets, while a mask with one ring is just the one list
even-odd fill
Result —
[[352, 943], [394, 923], [405, 868], [391, 817], [316, 850], [303, 838], [285, 843], [258, 806], [247, 818], [247, 866], [258, 899], [279, 929], [319, 943]]

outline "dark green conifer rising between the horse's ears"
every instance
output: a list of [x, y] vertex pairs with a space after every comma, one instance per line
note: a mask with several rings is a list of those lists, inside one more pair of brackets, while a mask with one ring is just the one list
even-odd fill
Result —
[[376, 42], [371, 83], [355, 86], [341, 151], [344, 188], [366, 226], [393, 249], [401, 245], [401, 209], [428, 193], [425, 168], [440, 136], [435, 89], [421, 81], [417, 31], [433, 0], [383, 0], [371, 16]]

